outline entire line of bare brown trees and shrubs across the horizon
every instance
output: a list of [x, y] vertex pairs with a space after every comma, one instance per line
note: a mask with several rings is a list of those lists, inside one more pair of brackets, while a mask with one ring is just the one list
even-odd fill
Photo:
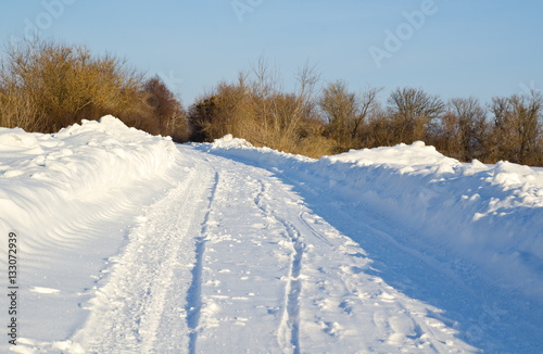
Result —
[[277, 71], [260, 59], [185, 109], [160, 77], [146, 79], [115, 56], [55, 41], [9, 43], [0, 64], [0, 124], [54, 132], [113, 114], [178, 142], [232, 134], [254, 146], [319, 157], [422, 140], [464, 162], [543, 166], [539, 91], [483, 104], [405, 87], [381, 101], [381, 88], [353, 92], [343, 80], [321, 84], [308, 64], [294, 78], [294, 89], [286, 91]]

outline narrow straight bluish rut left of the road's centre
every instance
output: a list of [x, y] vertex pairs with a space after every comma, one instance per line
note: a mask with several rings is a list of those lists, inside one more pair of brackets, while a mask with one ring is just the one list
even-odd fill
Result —
[[198, 341], [198, 330], [200, 323], [200, 314], [202, 309], [202, 268], [203, 268], [203, 257], [205, 252], [205, 242], [207, 240], [207, 223], [210, 220], [210, 214], [212, 210], [213, 200], [218, 187], [218, 173], [215, 172], [214, 182], [211, 191], [211, 195], [207, 204], [207, 212], [205, 213], [204, 220], [202, 223], [201, 236], [197, 238], [195, 243], [195, 264], [192, 268], [192, 282], [190, 283], [189, 291], [187, 293], [187, 325], [189, 327], [189, 353], [195, 353], [197, 341]]

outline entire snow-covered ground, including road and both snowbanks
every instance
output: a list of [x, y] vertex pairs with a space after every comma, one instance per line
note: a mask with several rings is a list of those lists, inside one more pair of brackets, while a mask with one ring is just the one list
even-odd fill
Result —
[[312, 160], [112, 116], [0, 128], [4, 275], [11, 239], [2, 353], [543, 347], [543, 172], [424, 142]]

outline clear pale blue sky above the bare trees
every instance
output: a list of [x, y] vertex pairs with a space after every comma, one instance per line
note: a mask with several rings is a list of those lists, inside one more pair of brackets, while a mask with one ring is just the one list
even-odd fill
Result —
[[285, 87], [306, 61], [353, 91], [444, 99], [543, 89], [543, 1], [5, 0], [0, 35], [87, 45], [159, 74], [188, 105], [264, 55]]

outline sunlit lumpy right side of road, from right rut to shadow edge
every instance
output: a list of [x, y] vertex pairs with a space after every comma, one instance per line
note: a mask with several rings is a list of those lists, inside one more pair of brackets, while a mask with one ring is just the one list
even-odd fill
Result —
[[440, 317], [425, 317], [431, 307], [366, 275], [370, 261], [358, 244], [319, 222], [303, 203], [292, 202], [288, 188], [276, 189], [274, 182], [263, 179], [260, 184], [255, 204], [282, 225], [293, 248], [277, 332], [285, 353], [326, 352], [331, 343], [338, 352], [393, 352], [399, 347], [454, 352], [456, 345], [458, 352], [466, 350], [451, 338], [454, 330]]

